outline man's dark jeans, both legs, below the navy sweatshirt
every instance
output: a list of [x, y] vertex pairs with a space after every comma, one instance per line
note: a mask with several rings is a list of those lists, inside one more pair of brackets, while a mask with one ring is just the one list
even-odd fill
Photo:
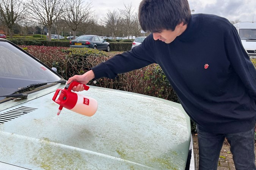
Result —
[[215, 134], [196, 127], [198, 132], [199, 170], [217, 170], [220, 151], [225, 137], [236, 170], [256, 170], [254, 155], [254, 128], [240, 133]]

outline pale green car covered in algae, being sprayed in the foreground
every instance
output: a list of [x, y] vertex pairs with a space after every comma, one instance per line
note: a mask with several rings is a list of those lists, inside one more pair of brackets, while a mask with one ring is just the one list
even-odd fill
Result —
[[180, 104], [90, 86], [79, 94], [97, 100], [93, 116], [57, 116], [66, 80], [8, 40], [0, 51], [0, 169], [194, 169]]

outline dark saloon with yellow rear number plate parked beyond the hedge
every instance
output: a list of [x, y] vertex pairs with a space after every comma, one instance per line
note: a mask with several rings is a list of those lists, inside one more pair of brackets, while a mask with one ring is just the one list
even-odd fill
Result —
[[110, 46], [109, 43], [106, 42], [99, 36], [94, 35], [83, 35], [77, 37], [75, 40], [69, 42], [70, 47], [75, 48], [93, 48], [93, 49], [101, 49], [109, 52]]

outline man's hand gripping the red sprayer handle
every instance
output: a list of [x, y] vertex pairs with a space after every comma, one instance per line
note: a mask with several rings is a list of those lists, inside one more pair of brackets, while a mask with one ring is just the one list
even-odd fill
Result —
[[90, 71], [87, 71], [85, 74], [83, 75], [75, 75], [73, 77], [70, 77], [68, 79], [68, 82], [67, 84], [71, 83], [72, 81], [77, 81], [81, 84], [77, 85], [77, 86], [74, 86], [72, 88], [73, 91], [83, 91], [85, 90], [83, 85], [82, 84], [87, 84], [91, 79], [93, 79], [95, 76], [94, 76], [94, 73], [93, 73], [93, 70], [90, 70]]

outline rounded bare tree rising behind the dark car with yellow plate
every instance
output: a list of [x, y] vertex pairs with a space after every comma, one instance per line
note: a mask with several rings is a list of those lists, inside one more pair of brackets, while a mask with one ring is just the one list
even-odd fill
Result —
[[90, 25], [90, 21], [94, 16], [94, 11], [91, 10], [92, 2], [83, 4], [82, 0], [69, 0], [62, 14], [63, 20], [73, 31], [74, 37], [75, 31], [79, 27]]

